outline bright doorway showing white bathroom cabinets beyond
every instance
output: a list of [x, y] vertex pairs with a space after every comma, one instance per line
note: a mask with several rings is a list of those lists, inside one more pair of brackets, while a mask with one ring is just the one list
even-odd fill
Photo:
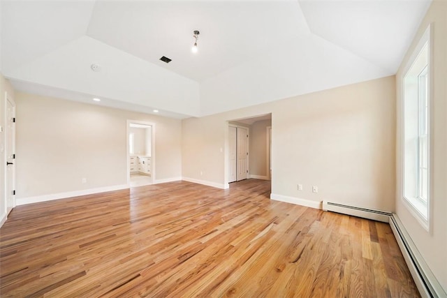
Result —
[[127, 181], [130, 187], [154, 183], [154, 124], [127, 121]]

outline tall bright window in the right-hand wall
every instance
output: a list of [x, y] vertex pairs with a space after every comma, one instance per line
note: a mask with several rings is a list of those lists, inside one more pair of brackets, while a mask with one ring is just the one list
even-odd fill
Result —
[[430, 27], [403, 77], [404, 183], [412, 213], [428, 228], [430, 202]]

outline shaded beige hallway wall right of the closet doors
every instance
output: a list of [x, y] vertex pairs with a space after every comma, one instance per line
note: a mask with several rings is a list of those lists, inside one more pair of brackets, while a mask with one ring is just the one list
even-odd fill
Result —
[[267, 172], [267, 126], [272, 120], [256, 121], [250, 126], [249, 174], [268, 177]]

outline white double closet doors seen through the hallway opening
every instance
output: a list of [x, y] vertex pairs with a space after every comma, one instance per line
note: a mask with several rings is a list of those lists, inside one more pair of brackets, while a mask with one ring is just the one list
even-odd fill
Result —
[[249, 174], [249, 129], [228, 126], [229, 169], [228, 182], [241, 181]]

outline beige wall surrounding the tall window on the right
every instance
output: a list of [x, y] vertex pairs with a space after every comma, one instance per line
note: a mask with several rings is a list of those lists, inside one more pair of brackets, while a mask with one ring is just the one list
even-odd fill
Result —
[[[410, 214], [402, 195], [402, 75], [428, 24], [433, 29], [432, 92], [432, 231], [427, 232]], [[433, 1], [407, 52], [397, 82], [397, 195], [396, 211], [425, 262], [447, 291], [447, 1]]]

